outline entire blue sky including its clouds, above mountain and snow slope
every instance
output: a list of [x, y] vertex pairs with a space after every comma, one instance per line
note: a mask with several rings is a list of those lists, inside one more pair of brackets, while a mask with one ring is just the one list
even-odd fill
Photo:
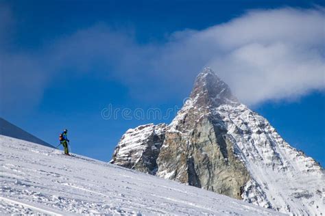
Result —
[[1, 116], [110, 160], [121, 135], [168, 118], [210, 66], [292, 146], [325, 164], [322, 1], [0, 1]]

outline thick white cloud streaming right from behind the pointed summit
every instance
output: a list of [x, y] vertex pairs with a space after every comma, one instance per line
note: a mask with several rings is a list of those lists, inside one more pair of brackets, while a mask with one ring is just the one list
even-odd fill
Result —
[[243, 103], [324, 90], [323, 8], [255, 10], [204, 31], [178, 32], [174, 38], [161, 62], [176, 59], [179, 68], [187, 62], [210, 66]]

